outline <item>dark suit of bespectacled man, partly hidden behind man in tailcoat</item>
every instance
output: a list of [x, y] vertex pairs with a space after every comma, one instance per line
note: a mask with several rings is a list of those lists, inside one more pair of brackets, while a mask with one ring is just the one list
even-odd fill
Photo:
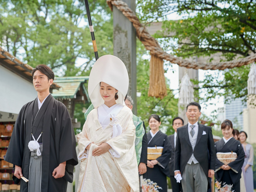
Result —
[[171, 158], [168, 164], [170, 170], [171, 189], [172, 192], [182, 192], [181, 183], [177, 183], [176, 179], [174, 178], [174, 134], [169, 135], [168, 139], [171, 143]]

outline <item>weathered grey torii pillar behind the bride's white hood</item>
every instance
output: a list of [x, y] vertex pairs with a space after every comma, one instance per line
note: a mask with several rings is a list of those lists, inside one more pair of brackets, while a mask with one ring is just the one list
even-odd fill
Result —
[[[135, 0], [123, 0], [128, 6], [136, 12]], [[125, 64], [129, 75], [129, 89], [127, 95], [130, 95], [134, 101], [132, 112], [137, 114], [137, 73], [136, 73], [136, 30], [132, 23], [113, 6], [113, 43], [114, 55], [119, 57]]]

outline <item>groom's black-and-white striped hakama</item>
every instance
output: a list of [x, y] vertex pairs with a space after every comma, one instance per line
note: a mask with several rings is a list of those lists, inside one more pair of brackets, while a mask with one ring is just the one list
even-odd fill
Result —
[[42, 147], [39, 143], [41, 155], [36, 155], [36, 150], [30, 153], [28, 192], [41, 192], [42, 183]]

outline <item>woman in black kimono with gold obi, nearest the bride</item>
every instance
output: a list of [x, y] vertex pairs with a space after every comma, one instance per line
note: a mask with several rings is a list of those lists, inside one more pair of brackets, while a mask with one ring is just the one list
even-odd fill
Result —
[[167, 139], [167, 135], [159, 131], [160, 125], [159, 116], [155, 114], [151, 115], [149, 118], [149, 127], [151, 130], [147, 133], [148, 167], [147, 172], [143, 174], [143, 192], [153, 191], [153, 189], [155, 191], [167, 192], [166, 176], [170, 177], [168, 162], [171, 156], [171, 145]]

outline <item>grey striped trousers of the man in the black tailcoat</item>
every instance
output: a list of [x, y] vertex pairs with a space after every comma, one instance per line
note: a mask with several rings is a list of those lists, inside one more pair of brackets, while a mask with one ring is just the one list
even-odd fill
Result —
[[208, 179], [199, 163], [187, 164], [182, 174], [182, 189], [186, 192], [206, 192]]

